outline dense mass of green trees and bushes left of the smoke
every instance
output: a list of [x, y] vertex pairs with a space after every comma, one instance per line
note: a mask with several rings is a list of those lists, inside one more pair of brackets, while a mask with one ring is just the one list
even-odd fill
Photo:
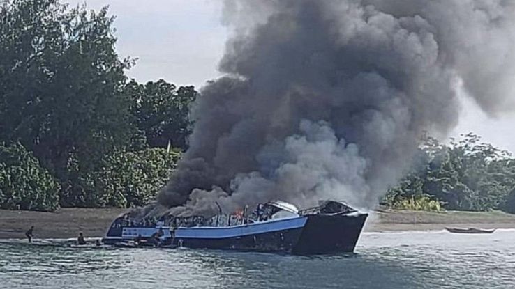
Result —
[[0, 208], [142, 205], [186, 150], [197, 92], [128, 79], [113, 20], [0, 1]]

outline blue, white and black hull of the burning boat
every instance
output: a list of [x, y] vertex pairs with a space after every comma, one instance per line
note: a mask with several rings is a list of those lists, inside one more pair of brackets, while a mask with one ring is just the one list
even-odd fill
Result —
[[[296, 255], [354, 251], [368, 214], [361, 212], [301, 213], [294, 217], [236, 226], [135, 227], [116, 219], [104, 244], [131, 243], [136, 237], [156, 245], [202, 249], [281, 252]], [[164, 235], [157, 242], [158, 230]]]

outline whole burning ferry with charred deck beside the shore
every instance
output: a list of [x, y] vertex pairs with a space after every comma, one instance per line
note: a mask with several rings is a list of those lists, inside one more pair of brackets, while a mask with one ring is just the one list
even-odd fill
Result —
[[134, 221], [124, 214], [112, 222], [103, 243], [297, 255], [342, 253], [354, 251], [366, 217], [336, 201], [323, 201], [306, 210], [272, 201], [257, 205], [248, 216], [244, 210], [211, 218], [161, 217], [155, 222]]

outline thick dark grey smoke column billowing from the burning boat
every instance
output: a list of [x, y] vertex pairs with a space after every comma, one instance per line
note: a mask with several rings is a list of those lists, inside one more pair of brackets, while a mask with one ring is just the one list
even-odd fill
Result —
[[515, 1], [227, 1], [220, 70], [158, 195], [174, 215], [281, 199], [373, 208], [465, 91], [513, 109]]

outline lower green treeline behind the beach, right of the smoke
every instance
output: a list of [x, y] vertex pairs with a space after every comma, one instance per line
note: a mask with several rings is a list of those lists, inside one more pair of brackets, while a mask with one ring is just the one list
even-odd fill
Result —
[[426, 137], [413, 169], [384, 203], [410, 210], [515, 213], [515, 159], [475, 134], [444, 145]]

